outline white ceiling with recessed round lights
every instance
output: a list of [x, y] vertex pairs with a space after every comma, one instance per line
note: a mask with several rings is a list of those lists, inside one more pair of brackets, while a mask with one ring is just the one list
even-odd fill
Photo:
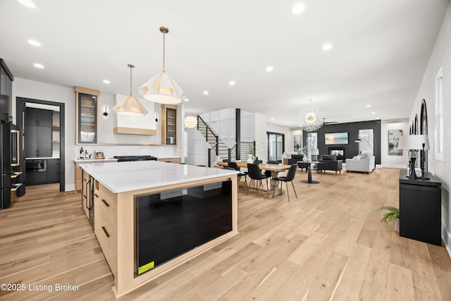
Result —
[[[138, 87], [162, 69], [164, 25], [166, 72], [190, 99], [187, 113], [240, 108], [290, 127], [309, 104], [326, 122], [408, 117], [450, 3], [32, 1], [37, 8], [0, 1], [0, 57], [17, 78], [128, 94], [133, 63], [138, 97]], [[297, 2], [305, 10], [294, 16]], [[321, 51], [325, 43], [333, 48]]]

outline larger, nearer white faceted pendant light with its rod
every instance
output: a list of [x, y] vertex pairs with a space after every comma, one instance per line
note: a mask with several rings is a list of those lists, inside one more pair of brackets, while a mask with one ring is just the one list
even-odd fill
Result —
[[160, 32], [163, 33], [163, 71], [154, 75], [147, 82], [144, 82], [140, 87], [140, 94], [151, 102], [158, 102], [159, 104], [180, 104], [185, 99], [186, 94], [165, 70], [165, 37], [166, 33], [169, 32], [168, 27], [161, 26]]

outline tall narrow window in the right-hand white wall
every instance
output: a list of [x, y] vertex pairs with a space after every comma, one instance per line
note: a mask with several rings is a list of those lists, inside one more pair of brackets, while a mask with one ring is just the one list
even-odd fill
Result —
[[445, 162], [445, 108], [443, 97], [443, 68], [435, 78], [435, 159]]

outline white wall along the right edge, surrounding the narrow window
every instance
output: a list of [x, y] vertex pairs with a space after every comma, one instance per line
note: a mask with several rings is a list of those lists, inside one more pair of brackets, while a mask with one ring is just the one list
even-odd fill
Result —
[[[442, 27], [424, 73], [416, 101], [410, 114], [410, 123], [415, 114], [420, 116], [421, 101], [426, 100], [428, 111], [428, 138], [431, 149], [428, 152], [429, 171], [442, 183], [442, 238], [451, 254], [451, 4], [448, 6]], [[435, 152], [435, 76], [443, 67], [445, 97], [445, 162], [434, 158]]]

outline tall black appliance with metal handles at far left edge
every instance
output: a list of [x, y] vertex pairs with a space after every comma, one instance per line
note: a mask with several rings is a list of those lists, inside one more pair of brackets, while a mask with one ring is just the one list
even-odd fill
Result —
[[23, 185], [22, 173], [18, 171], [21, 163], [19, 140], [20, 131], [16, 128], [16, 125], [8, 121], [1, 121], [0, 210], [11, 206], [11, 203], [16, 198], [16, 191]]

